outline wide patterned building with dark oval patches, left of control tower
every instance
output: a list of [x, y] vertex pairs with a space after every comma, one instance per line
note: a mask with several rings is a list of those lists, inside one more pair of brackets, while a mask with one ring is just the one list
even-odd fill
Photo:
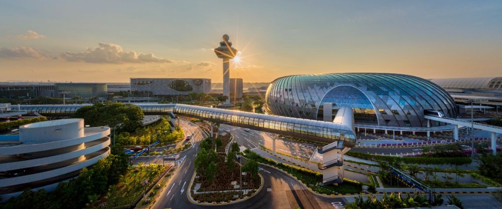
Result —
[[153, 95], [188, 95], [209, 93], [211, 79], [207, 78], [131, 78], [131, 92], [150, 92]]

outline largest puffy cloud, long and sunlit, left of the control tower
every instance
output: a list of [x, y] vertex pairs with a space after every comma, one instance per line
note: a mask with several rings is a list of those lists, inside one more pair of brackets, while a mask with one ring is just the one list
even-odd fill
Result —
[[99, 43], [96, 48], [88, 48], [82, 53], [61, 53], [60, 58], [70, 62], [90, 63], [173, 63], [174, 60], [156, 57], [152, 53], [144, 54], [136, 51], [124, 51], [120, 45]]

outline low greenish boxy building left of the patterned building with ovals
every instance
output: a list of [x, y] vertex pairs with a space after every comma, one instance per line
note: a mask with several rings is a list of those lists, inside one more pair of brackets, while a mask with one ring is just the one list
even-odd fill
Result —
[[106, 83], [55, 83], [56, 96], [66, 92], [66, 97], [106, 97], [107, 89]]

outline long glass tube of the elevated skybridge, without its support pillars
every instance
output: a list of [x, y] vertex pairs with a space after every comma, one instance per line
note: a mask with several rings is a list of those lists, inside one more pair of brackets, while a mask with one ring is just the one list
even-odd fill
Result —
[[[71, 116], [78, 109], [90, 104], [21, 105], [28, 114], [43, 116]], [[247, 113], [241, 111], [207, 108], [188, 104], [135, 104], [145, 115], [169, 115], [174, 113], [215, 123], [249, 128], [286, 136], [299, 137], [325, 143], [341, 140], [344, 146], [355, 144], [353, 117], [339, 114], [334, 122], [289, 118], [283, 116]], [[16, 109], [17, 107], [14, 107]], [[343, 112], [341, 112], [343, 113]], [[344, 120], [345, 119], [345, 120]]]

